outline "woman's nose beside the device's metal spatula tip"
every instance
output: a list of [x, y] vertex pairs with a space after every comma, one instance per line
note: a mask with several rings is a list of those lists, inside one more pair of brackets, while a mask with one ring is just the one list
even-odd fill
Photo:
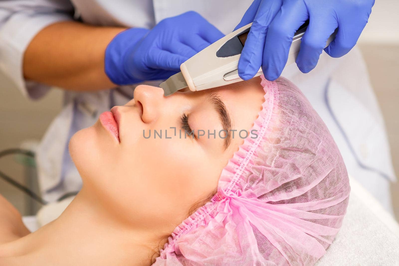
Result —
[[134, 101], [142, 106], [141, 119], [144, 123], [151, 123], [158, 119], [162, 101], [164, 100], [164, 90], [148, 85], [139, 85], [134, 89]]

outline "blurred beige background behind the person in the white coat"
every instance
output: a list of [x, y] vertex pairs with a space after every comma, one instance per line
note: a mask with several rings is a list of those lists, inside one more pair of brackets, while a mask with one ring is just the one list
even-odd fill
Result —
[[[391, 155], [399, 177], [399, 1], [378, 0], [373, 7], [358, 47], [367, 63], [371, 83], [381, 107], [388, 132]], [[28, 100], [0, 73], [0, 151], [34, 148], [61, 111], [63, 92], [52, 89], [37, 101]], [[37, 190], [32, 161], [24, 156], [0, 158], [0, 171]], [[391, 184], [392, 201], [399, 221], [399, 182]], [[40, 204], [0, 179], [0, 194], [22, 215], [33, 215]]]

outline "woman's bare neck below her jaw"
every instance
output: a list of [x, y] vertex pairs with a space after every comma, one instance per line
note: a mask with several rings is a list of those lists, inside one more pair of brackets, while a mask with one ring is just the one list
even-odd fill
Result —
[[6, 265], [149, 265], [160, 240], [153, 232], [116, 221], [83, 187], [55, 221], [8, 243]]

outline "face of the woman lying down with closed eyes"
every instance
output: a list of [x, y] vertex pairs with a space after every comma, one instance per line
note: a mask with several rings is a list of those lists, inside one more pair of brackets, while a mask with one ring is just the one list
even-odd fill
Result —
[[[109, 114], [119, 140], [106, 114], [72, 137], [69, 151], [83, 189], [128, 223], [172, 231], [194, 203], [215, 191], [246, 136], [239, 131], [249, 132], [264, 94], [260, 78], [169, 97], [157, 87], [136, 87], [134, 99]], [[194, 138], [185, 137], [185, 129]]]

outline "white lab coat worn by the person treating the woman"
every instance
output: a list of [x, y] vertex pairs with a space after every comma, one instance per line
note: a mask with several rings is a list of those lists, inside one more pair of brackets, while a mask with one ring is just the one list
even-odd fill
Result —
[[[0, 71], [31, 98], [49, 88], [26, 81], [22, 56], [45, 26], [80, 19], [98, 26], [152, 28], [160, 20], [195, 10], [227, 34], [239, 23], [252, 0], [2, 0], [0, 1]], [[389, 181], [395, 179], [383, 119], [368, 81], [365, 64], [354, 49], [340, 59], [325, 53], [316, 69], [302, 74], [296, 65], [282, 76], [293, 81], [326, 122], [348, 172], [391, 211]], [[149, 82], [158, 85], [159, 82]], [[47, 201], [77, 191], [81, 179], [68, 153], [71, 136], [94, 124], [99, 114], [123, 105], [134, 86], [95, 93], [65, 91], [65, 107], [53, 121], [38, 150], [40, 189]]]

